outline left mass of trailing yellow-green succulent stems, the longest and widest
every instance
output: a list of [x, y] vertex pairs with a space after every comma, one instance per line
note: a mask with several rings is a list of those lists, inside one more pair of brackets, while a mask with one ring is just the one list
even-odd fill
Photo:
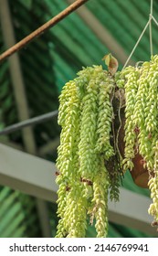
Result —
[[80, 70], [59, 96], [57, 237], [85, 237], [89, 221], [98, 237], [107, 236], [114, 86], [108, 71], [93, 66]]

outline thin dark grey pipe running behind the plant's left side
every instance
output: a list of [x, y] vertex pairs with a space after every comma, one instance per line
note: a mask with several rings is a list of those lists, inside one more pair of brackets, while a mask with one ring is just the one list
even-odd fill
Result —
[[25, 128], [26, 126], [29, 126], [29, 125], [34, 125], [37, 123], [44, 123], [47, 120], [50, 120], [51, 118], [53, 118], [57, 115], [58, 115], [58, 110], [54, 111], [54, 112], [48, 112], [48, 113], [39, 115], [37, 117], [30, 118], [30, 119], [22, 121], [20, 123], [15, 123], [13, 125], [6, 127], [3, 131], [1, 131], [0, 135], [16, 132], [17, 130]]

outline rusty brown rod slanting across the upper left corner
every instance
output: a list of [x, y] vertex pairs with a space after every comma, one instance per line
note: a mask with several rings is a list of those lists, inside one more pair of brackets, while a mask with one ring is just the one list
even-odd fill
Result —
[[73, 4], [68, 5], [68, 7], [60, 12], [57, 16], [52, 17], [49, 21], [47, 21], [43, 26], [38, 27], [37, 30], [29, 34], [27, 37], [23, 38], [21, 41], [19, 41], [16, 45], [13, 47], [7, 49], [2, 55], [0, 55], [0, 62], [7, 57], [14, 54], [17, 50], [20, 48], [24, 48], [26, 44], [31, 42], [35, 37], [38, 37], [39, 35], [43, 34], [48, 28], [54, 27], [58, 22], [62, 19], [64, 19], [66, 16], [74, 12], [76, 9], [79, 8], [79, 6], [84, 5], [89, 0], [77, 0]]

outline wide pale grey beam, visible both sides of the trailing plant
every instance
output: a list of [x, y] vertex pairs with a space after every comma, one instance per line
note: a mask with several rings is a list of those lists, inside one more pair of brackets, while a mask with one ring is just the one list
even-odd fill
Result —
[[[37, 156], [28, 155], [0, 144], [0, 184], [55, 202], [58, 186], [55, 183], [56, 166]], [[139, 229], [158, 236], [151, 227], [148, 215], [151, 199], [121, 188], [120, 201], [109, 203], [109, 219], [112, 222]]]

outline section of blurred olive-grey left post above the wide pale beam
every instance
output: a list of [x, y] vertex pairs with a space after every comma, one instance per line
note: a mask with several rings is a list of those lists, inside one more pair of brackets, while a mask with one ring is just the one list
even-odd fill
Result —
[[[16, 43], [14, 28], [12, 25], [12, 20], [10, 16], [10, 10], [7, 0], [0, 0], [0, 19], [1, 27], [5, 42], [5, 47], [10, 48]], [[14, 94], [16, 98], [16, 107], [18, 112], [19, 121], [24, 121], [29, 119], [28, 106], [26, 101], [26, 91], [24, 80], [21, 72], [20, 61], [18, 54], [16, 53], [10, 59], [9, 70], [11, 75], [11, 80], [13, 84]], [[3, 64], [1, 64], [3, 65]], [[27, 127], [22, 131], [23, 141], [25, 144], [26, 152], [30, 154], [35, 154], [36, 144], [34, 140], [34, 134], [31, 127]]]

